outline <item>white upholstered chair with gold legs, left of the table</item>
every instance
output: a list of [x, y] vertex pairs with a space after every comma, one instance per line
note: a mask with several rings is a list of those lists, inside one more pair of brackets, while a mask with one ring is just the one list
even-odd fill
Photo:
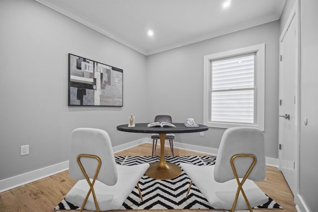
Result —
[[119, 209], [148, 169], [149, 164], [122, 166], [115, 163], [108, 133], [79, 128], [71, 135], [70, 176], [78, 180], [66, 201], [81, 210]]

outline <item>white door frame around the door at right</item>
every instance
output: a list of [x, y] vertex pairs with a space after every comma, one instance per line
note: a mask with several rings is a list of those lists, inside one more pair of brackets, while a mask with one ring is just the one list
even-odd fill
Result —
[[[283, 31], [281, 33], [281, 36], [279, 37], [279, 55], [281, 55], [281, 50], [282, 50], [282, 40], [284, 39], [284, 36], [287, 33], [287, 30], [289, 28], [289, 26], [292, 23], [293, 18], [295, 18], [296, 20], [296, 74], [295, 74], [295, 135], [296, 135], [296, 161], [295, 161], [295, 192], [296, 194], [294, 194], [294, 197], [297, 197], [297, 194], [299, 194], [299, 189], [300, 189], [300, 183], [299, 183], [299, 161], [300, 161], [300, 0], [296, 0], [295, 4], [293, 6], [293, 9], [291, 10], [291, 13], [287, 19], [287, 22], [283, 28]], [[280, 60], [280, 59], [279, 59]], [[284, 59], [283, 59], [284, 60]], [[282, 63], [279, 63], [279, 88], [282, 82], [282, 77], [281, 77], [281, 70], [282, 70]], [[281, 99], [281, 89], [279, 89], [279, 99]], [[279, 115], [281, 114], [281, 107], [278, 103], [278, 112]], [[282, 143], [282, 135], [280, 132], [281, 129], [281, 123], [282, 123], [282, 119], [278, 119], [279, 120], [279, 137], [278, 137], [278, 143]], [[282, 147], [284, 148], [284, 147]], [[278, 159], [279, 159], [279, 169], [281, 170], [282, 167], [282, 151], [278, 150]]]

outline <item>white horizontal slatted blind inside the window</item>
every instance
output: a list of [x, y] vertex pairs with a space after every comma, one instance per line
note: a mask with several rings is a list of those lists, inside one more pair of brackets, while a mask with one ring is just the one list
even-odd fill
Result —
[[254, 58], [211, 61], [211, 121], [254, 123]]

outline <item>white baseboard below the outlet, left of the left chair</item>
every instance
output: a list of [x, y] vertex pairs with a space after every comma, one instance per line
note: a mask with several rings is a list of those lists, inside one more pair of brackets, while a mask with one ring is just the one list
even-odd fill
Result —
[[0, 193], [69, 169], [69, 161], [0, 180]]

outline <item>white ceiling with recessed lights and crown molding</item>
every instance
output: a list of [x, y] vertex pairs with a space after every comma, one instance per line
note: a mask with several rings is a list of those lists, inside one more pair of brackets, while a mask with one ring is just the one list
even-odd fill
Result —
[[[285, 0], [37, 0], [151, 55], [278, 20]], [[147, 35], [153, 30], [153, 37]]]

